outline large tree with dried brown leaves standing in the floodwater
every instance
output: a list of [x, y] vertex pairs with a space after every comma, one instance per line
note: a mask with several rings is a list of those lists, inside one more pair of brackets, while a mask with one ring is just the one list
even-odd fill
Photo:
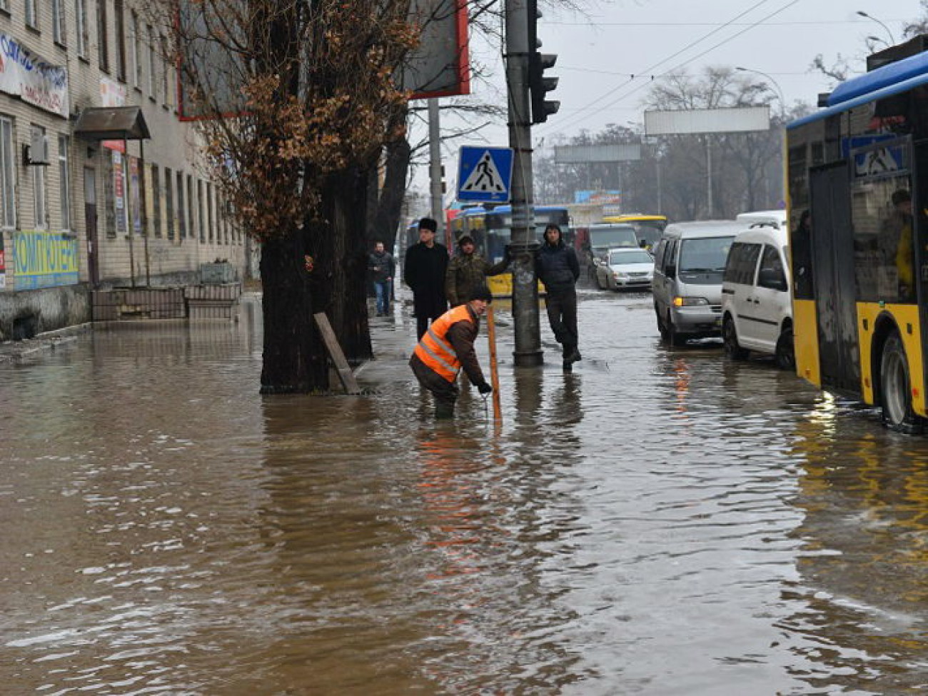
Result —
[[350, 358], [371, 354], [367, 203], [408, 95], [408, 0], [160, 0], [185, 107], [242, 228], [262, 245], [264, 393], [329, 389], [313, 315]]

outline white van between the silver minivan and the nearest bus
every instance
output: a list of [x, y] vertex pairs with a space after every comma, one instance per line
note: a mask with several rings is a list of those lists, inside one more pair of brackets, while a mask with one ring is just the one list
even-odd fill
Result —
[[722, 281], [725, 353], [743, 360], [750, 351], [771, 354], [783, 369], [795, 367], [793, 297], [786, 230], [755, 225], [728, 251]]

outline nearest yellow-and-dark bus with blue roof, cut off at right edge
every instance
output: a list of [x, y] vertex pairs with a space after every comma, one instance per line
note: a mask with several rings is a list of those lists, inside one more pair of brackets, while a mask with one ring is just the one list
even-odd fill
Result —
[[922, 432], [928, 53], [840, 84], [786, 149], [796, 371]]

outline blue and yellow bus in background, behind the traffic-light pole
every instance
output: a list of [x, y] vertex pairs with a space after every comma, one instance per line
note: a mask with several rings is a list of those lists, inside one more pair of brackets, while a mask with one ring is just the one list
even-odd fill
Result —
[[[567, 208], [563, 206], [535, 206], [535, 238], [542, 242], [545, 236], [545, 227], [549, 224], [555, 224], [561, 227], [561, 237], [564, 243], [574, 244], [574, 231], [570, 228], [570, 218], [567, 214]], [[512, 207], [509, 205], [497, 205], [492, 210], [484, 208], [468, 208], [461, 211], [458, 216], [451, 221], [448, 233], [448, 249], [454, 252], [456, 250], [456, 241], [463, 233], [467, 232], [474, 240], [477, 251], [483, 254], [483, 257], [491, 264], [496, 264], [503, 260], [506, 255], [506, 247], [511, 240], [512, 234]], [[494, 297], [511, 297], [512, 295], [512, 274], [502, 273], [498, 276], [491, 276], [487, 279], [487, 286], [493, 293]], [[539, 292], [544, 288], [538, 284]]]

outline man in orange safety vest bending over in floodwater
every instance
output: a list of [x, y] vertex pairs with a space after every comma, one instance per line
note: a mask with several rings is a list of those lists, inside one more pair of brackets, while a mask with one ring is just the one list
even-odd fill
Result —
[[419, 384], [435, 396], [436, 419], [449, 419], [455, 415], [455, 402], [458, 401], [456, 382], [461, 367], [480, 393], [493, 391], [493, 387], [483, 379], [483, 371], [473, 350], [480, 317], [491, 302], [493, 295], [486, 287], [471, 290], [467, 303], [448, 310], [432, 322], [409, 358], [409, 367], [412, 367]]

